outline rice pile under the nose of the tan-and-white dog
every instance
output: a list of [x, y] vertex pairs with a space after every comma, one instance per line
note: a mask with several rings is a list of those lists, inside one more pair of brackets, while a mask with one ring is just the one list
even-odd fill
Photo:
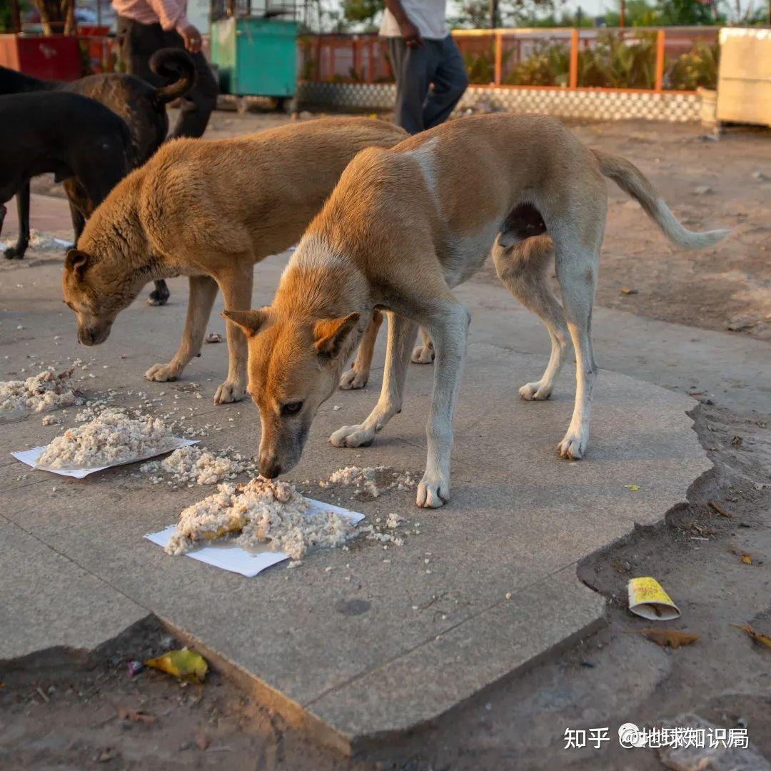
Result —
[[307, 510], [305, 498], [286, 482], [256, 477], [245, 485], [221, 484], [217, 493], [180, 513], [166, 553], [185, 554], [202, 541], [240, 532], [238, 546], [248, 550], [267, 543], [298, 560], [313, 547], [342, 546], [352, 533], [345, 517]]

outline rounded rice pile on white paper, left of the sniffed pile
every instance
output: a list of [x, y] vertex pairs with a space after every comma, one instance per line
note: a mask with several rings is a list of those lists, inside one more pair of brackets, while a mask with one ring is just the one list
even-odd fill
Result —
[[172, 449], [176, 439], [159, 418], [130, 418], [106, 409], [96, 418], [67, 429], [43, 450], [37, 466], [49, 469], [85, 469], [123, 463]]

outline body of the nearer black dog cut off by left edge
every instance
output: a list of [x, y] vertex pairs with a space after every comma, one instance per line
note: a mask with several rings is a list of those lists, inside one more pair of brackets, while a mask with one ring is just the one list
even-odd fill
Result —
[[134, 165], [126, 121], [87, 96], [0, 96], [0, 231], [5, 202], [38, 174], [72, 180], [86, 217]]

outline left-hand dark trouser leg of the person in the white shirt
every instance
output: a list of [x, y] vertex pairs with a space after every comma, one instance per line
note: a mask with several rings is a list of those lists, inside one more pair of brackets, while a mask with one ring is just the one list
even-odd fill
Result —
[[394, 122], [416, 134], [423, 131], [423, 105], [436, 67], [434, 40], [424, 40], [419, 48], [407, 48], [403, 38], [386, 38], [391, 66], [396, 76]]

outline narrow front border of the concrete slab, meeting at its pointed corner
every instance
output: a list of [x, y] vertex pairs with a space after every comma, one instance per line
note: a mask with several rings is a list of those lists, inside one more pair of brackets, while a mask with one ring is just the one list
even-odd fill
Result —
[[[551, 594], [554, 594], [554, 597], [564, 596], [566, 583], [572, 584], [569, 590], [572, 593], [573, 601], [569, 607], [564, 608], [564, 612], [574, 615], [572, 629], [567, 635], [564, 634], [564, 614], [558, 616], [557, 614], [544, 613], [544, 595], [548, 597], [550, 591], [548, 589], [545, 592], [537, 591], [540, 584], [551, 584]], [[557, 574], [540, 582], [540, 584], [520, 592], [512, 600], [502, 599], [500, 603], [492, 608], [487, 608], [476, 618], [466, 619], [449, 633], [440, 635], [441, 640], [427, 641], [416, 650], [409, 651], [406, 655], [388, 662], [373, 672], [365, 673], [360, 678], [354, 678], [352, 682], [332, 689], [331, 692], [306, 705], [289, 699], [278, 689], [247, 672], [219, 651], [209, 648], [200, 639], [195, 638], [194, 635], [190, 635], [170, 621], [166, 619], [160, 619], [160, 621], [164, 628], [167, 628], [173, 635], [204, 655], [221, 675], [224, 675], [239, 689], [251, 695], [260, 705], [281, 715], [281, 718], [289, 726], [300, 730], [308, 738], [334, 749], [344, 756], [362, 757], [372, 756], [379, 749], [389, 746], [397, 739], [430, 726], [443, 715], [456, 709], [463, 709], [463, 706], [471, 699], [478, 698], [480, 694], [496, 687], [501, 682], [521, 675], [532, 666], [571, 648], [577, 641], [593, 635], [606, 624], [604, 598], [578, 580], [575, 566], [558, 571]], [[383, 721], [377, 716], [376, 709], [375, 717], [372, 718], [372, 707], [376, 708], [378, 703], [385, 705], [392, 697], [395, 683], [392, 682], [391, 677], [396, 677], [396, 684], [409, 685], [411, 692], [419, 694], [427, 692], [431, 686], [436, 689], [437, 686], [444, 688], [448, 685], [441, 678], [437, 678], [437, 674], [441, 673], [436, 672], [436, 668], [430, 666], [432, 646], [439, 643], [446, 645], [446, 641], [449, 641], [449, 645], [457, 646], [460, 651], [464, 648], [464, 631], [469, 628], [468, 625], [480, 624], [487, 624], [491, 645], [500, 645], [500, 635], [505, 635], [507, 629], [516, 628], [517, 617], [520, 618], [520, 622], [521, 618], [527, 618], [525, 622], [531, 626], [527, 639], [537, 646], [537, 651], [527, 649], [527, 646], [525, 649], [512, 646], [510, 661], [496, 665], [493, 657], [488, 656], [485, 648], [478, 648], [475, 651], [476, 657], [481, 661], [490, 662], [493, 667], [487, 682], [483, 685], [464, 684], [462, 678], [455, 678], [453, 675], [452, 677], [456, 681], [456, 691], [444, 696], [443, 705], [439, 709], [434, 705], [413, 703], [411, 708], [407, 707], [402, 712], [399, 724], [389, 726], [387, 729], [382, 729]], [[555, 625], [555, 621], [559, 623]], [[549, 628], [550, 625], [551, 628]], [[498, 638], [497, 641], [495, 638]], [[399, 672], [399, 669], [412, 667], [420, 658], [423, 658], [424, 661], [426, 658], [429, 659], [429, 666], [423, 669], [424, 682], [422, 684], [415, 676], [405, 677], [403, 672]], [[378, 686], [385, 690], [379, 691]], [[352, 689], [353, 692], [348, 689]], [[434, 696], [436, 696], [435, 693], [429, 700], [432, 700]], [[374, 705], [372, 703], [373, 698]], [[369, 703], [367, 703], [368, 700]], [[357, 722], [356, 715], [358, 710], [362, 708], [365, 708], [370, 716], [370, 726]], [[372, 729], [372, 726], [378, 727]]]

